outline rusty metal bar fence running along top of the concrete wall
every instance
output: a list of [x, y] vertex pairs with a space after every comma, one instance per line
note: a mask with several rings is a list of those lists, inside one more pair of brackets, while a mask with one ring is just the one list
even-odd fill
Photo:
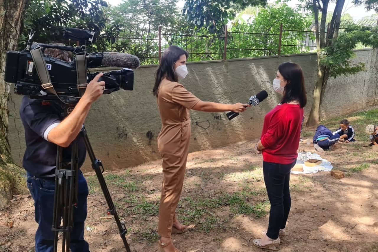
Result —
[[[372, 19], [357, 22], [343, 20], [339, 34], [353, 23], [373, 27], [377, 25], [376, 22]], [[239, 26], [237, 29], [226, 26], [222, 35], [195, 30], [191, 33], [168, 32], [159, 27], [157, 32], [150, 32], [146, 37], [99, 37], [93, 50], [134, 54], [139, 57], [141, 64], [158, 64], [161, 53], [170, 45], [184, 48], [189, 53], [188, 61], [279, 56], [316, 50], [314, 22], [291, 26], [267, 23], [266, 27], [252, 29], [251, 25]], [[326, 33], [327, 30], [328, 27]], [[363, 48], [363, 45], [359, 47]]]

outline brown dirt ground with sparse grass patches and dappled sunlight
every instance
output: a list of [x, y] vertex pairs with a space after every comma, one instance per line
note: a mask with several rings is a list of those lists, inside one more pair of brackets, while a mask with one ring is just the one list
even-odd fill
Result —
[[[310, 137], [306, 129], [302, 137]], [[173, 235], [183, 251], [262, 251], [245, 244], [260, 238], [268, 224], [269, 202], [262, 156], [255, 142], [189, 154], [177, 216], [196, 227]], [[291, 212], [280, 251], [378, 251], [377, 152], [367, 142], [337, 144], [321, 154], [343, 179], [330, 172], [291, 174]], [[300, 149], [314, 151], [312, 145]], [[93, 173], [85, 239], [91, 251], [124, 251], [114, 219]], [[161, 190], [161, 161], [104, 173], [132, 251], [158, 251], [156, 233]], [[26, 196], [25, 196], [26, 197]], [[14, 198], [0, 211], [0, 251], [34, 251], [33, 199]], [[9, 226], [12, 226], [9, 228]]]

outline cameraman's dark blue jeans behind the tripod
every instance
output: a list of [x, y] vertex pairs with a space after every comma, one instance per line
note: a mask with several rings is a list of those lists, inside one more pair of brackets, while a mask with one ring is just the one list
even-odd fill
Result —
[[[71, 230], [72, 252], [89, 251], [88, 243], [84, 241], [84, 221], [87, 218], [87, 181], [81, 172], [79, 172], [77, 207], [73, 212], [73, 228]], [[39, 177], [27, 174], [29, 191], [34, 199], [34, 216], [38, 223], [36, 232], [36, 252], [54, 251], [54, 232], [51, 231], [53, 224], [54, 208], [54, 179], [41, 179]]]

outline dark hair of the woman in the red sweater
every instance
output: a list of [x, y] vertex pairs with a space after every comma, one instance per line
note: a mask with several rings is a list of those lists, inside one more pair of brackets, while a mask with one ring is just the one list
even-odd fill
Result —
[[292, 62], [284, 62], [279, 65], [278, 71], [287, 81], [281, 103], [299, 101], [301, 107], [306, 106], [305, 78], [301, 66]]

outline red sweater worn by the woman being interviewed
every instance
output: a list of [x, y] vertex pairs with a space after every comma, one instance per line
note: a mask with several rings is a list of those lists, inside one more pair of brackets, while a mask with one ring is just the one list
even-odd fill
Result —
[[298, 154], [303, 119], [303, 108], [298, 104], [277, 105], [264, 118], [261, 143], [264, 161], [293, 163]]

